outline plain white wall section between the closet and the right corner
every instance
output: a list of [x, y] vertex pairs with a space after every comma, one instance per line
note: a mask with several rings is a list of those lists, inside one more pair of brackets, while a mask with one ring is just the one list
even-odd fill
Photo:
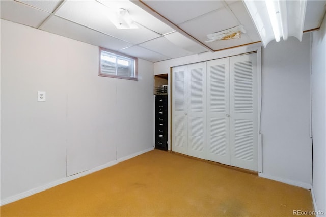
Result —
[[262, 50], [263, 174], [311, 184], [311, 33]]

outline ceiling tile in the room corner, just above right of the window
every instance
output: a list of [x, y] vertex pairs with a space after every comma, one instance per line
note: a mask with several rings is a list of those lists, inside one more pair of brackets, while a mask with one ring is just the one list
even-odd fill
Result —
[[119, 50], [121, 53], [125, 53], [127, 55], [133, 56], [133, 57], [138, 57], [147, 61], [151, 62], [158, 62], [162, 60], [168, 60], [171, 59], [167, 56], [161, 55], [160, 53], [145, 49], [140, 46], [132, 46], [128, 47], [123, 50]]

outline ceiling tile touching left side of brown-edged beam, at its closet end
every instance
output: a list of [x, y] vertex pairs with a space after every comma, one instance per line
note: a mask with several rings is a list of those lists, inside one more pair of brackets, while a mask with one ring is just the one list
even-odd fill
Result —
[[188, 50], [193, 53], [201, 53], [208, 51], [207, 48], [197, 44], [191, 39], [188, 39], [184, 35], [178, 32], [173, 32], [167, 35], [164, 35], [166, 39], [168, 39], [170, 42], [175, 44], [176, 46], [179, 46], [185, 50]]

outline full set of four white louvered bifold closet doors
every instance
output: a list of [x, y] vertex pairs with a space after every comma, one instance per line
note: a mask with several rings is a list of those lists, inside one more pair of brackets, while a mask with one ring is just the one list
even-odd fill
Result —
[[172, 150], [258, 170], [257, 53], [172, 69]]

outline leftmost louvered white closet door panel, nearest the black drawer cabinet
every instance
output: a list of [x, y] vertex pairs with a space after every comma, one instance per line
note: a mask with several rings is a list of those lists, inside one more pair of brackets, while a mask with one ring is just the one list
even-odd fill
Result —
[[172, 69], [172, 150], [187, 154], [187, 66]]

